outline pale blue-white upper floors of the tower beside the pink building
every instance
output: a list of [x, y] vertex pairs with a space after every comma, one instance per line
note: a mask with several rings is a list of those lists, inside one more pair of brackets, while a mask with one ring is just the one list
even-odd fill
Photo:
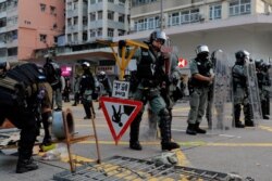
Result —
[[66, 44], [94, 43], [123, 36], [128, 29], [128, 1], [66, 0]]

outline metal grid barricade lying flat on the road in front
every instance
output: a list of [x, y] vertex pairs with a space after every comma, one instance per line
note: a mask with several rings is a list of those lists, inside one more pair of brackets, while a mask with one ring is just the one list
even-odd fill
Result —
[[[170, 161], [171, 163], [171, 161]], [[82, 180], [188, 180], [188, 181], [246, 181], [233, 173], [223, 173], [203, 169], [160, 164], [154, 159], [144, 160], [123, 156], [113, 156], [101, 164], [83, 163], [76, 172], [62, 171], [53, 176], [58, 181]], [[252, 179], [251, 179], [252, 180]], [[248, 180], [249, 181], [249, 180]]]

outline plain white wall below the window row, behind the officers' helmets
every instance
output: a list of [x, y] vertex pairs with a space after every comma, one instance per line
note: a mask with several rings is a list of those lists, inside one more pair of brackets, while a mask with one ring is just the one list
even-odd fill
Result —
[[[252, 59], [272, 57], [272, 36], [265, 33], [256, 34], [248, 30], [222, 30], [209, 34], [186, 34], [170, 36], [172, 44], [180, 50], [180, 55], [187, 60], [196, 56], [198, 44], [207, 44], [210, 51], [222, 49], [230, 59], [238, 50], [247, 50]], [[270, 53], [268, 53], [270, 52]]]

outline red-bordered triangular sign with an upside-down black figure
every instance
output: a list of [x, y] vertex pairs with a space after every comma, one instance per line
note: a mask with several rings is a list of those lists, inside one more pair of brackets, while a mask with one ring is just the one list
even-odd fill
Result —
[[111, 134], [115, 144], [118, 144], [118, 141], [141, 109], [143, 103], [140, 101], [109, 96], [101, 96], [99, 101], [101, 102], [101, 107]]

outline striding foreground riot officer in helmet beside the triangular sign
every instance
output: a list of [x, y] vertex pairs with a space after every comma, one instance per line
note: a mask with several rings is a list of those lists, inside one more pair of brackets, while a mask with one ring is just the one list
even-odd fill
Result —
[[[161, 132], [161, 148], [171, 151], [178, 148], [180, 145], [171, 141], [171, 118], [166, 104], [161, 96], [160, 88], [168, 83], [168, 75], [163, 69], [164, 64], [169, 61], [169, 55], [161, 52], [161, 46], [165, 42], [166, 35], [164, 31], [154, 30], [146, 42], [149, 50], [139, 49], [135, 53], [137, 59], [137, 88], [133, 93], [135, 100], [144, 103], [141, 112], [131, 124], [129, 147], [132, 150], [141, 150], [139, 143], [139, 126], [146, 103], [159, 117], [159, 128]], [[123, 43], [124, 44], [124, 43]]]

